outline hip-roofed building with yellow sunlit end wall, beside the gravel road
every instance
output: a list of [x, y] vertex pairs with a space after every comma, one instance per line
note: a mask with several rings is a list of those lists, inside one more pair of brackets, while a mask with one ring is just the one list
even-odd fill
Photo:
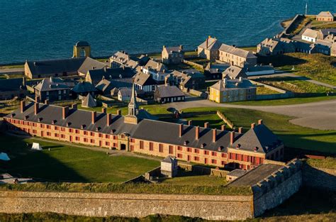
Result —
[[254, 100], [257, 88], [248, 79], [222, 79], [210, 87], [209, 100], [216, 103]]

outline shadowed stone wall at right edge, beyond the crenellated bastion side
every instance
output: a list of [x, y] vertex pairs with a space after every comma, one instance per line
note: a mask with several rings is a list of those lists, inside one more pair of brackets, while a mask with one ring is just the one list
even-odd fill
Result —
[[303, 165], [303, 186], [336, 191], [336, 169]]

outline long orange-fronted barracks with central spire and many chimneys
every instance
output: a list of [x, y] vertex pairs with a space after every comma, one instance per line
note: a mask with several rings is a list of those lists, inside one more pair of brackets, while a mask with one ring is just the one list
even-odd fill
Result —
[[282, 160], [284, 144], [262, 121], [252, 124], [247, 133], [168, 123], [153, 120], [153, 116], [139, 109], [135, 100], [135, 88], [128, 105], [128, 115], [85, 111], [72, 106], [21, 101], [21, 106], [4, 116], [7, 131], [35, 135], [52, 140], [116, 148], [146, 155], [213, 165], [237, 167], [249, 170], [265, 159]]

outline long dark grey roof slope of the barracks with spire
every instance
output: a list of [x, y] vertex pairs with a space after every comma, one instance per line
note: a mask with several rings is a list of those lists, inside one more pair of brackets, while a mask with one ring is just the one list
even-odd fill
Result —
[[[33, 103], [26, 106], [26, 110], [21, 113], [20, 109], [17, 109], [13, 113], [13, 118], [26, 121], [52, 124], [55, 121], [55, 126], [81, 129], [93, 131], [96, 133], [108, 133], [113, 132], [113, 135], [120, 133], [128, 133], [131, 137], [150, 140], [157, 143], [167, 143], [173, 145], [187, 146], [191, 148], [200, 148], [204, 150], [218, 151], [221, 148], [221, 152], [227, 152], [227, 147], [230, 145], [230, 132], [217, 130], [217, 139], [213, 143], [213, 131], [211, 128], [199, 128], [199, 139], [196, 140], [196, 127], [195, 126], [183, 126], [182, 136], [179, 137], [179, 124], [167, 123], [163, 121], [154, 121], [149, 119], [142, 119], [138, 124], [124, 123], [123, 116], [112, 115], [112, 123], [110, 126], [106, 126], [106, 113], [96, 113], [96, 122], [91, 123], [91, 111], [84, 111], [80, 109], [69, 109], [67, 117], [62, 119], [62, 107], [46, 104], [39, 104], [39, 112], [34, 114]], [[11, 118], [11, 114], [6, 118]], [[96, 131], [98, 130], [98, 131]], [[240, 138], [241, 133], [235, 133], [235, 140]], [[238, 139], [239, 140], [239, 139]]]

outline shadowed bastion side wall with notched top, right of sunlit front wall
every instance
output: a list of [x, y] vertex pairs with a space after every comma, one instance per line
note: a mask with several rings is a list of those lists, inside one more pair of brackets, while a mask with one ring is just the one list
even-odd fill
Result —
[[293, 160], [277, 172], [252, 186], [254, 196], [254, 216], [273, 209], [300, 189], [302, 184], [302, 162]]

